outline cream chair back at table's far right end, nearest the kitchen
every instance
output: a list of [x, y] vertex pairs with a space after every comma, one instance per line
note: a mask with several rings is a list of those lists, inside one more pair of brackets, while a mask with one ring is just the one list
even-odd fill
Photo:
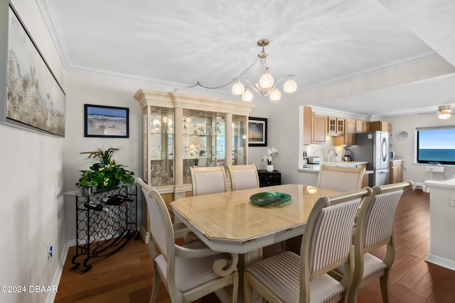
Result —
[[318, 187], [338, 192], [350, 192], [362, 188], [365, 167], [321, 165]]

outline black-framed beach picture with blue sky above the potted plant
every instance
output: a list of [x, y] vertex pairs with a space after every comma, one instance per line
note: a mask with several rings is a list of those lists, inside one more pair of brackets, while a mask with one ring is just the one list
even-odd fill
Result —
[[84, 136], [129, 138], [129, 108], [84, 104]]

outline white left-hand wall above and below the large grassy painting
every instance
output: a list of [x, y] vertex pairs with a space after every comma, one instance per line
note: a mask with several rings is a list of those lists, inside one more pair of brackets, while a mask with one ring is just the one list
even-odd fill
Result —
[[[12, 3], [64, 87], [63, 66], [35, 1]], [[28, 286], [58, 282], [58, 260], [66, 244], [61, 195], [65, 139], [0, 125], [0, 142], [0, 285], [27, 290], [0, 292], [0, 302], [45, 302], [47, 293], [29, 293]], [[49, 259], [48, 243], [54, 247]]]

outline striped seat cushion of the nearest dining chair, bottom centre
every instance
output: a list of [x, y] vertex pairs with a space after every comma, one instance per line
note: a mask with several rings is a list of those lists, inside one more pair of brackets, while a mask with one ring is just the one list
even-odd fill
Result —
[[[286, 251], [248, 267], [283, 302], [299, 302], [300, 257]], [[324, 274], [310, 282], [311, 302], [327, 302], [344, 291], [341, 282]]]

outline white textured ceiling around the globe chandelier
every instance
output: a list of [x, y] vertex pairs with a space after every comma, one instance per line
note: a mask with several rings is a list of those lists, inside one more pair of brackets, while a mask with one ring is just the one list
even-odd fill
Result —
[[[229, 83], [257, 59], [261, 38], [270, 40], [272, 75], [297, 76], [298, 91], [283, 101], [440, 56], [455, 65], [450, 0], [37, 1], [68, 70], [175, 88]], [[447, 73], [455, 72], [449, 63]], [[254, 82], [257, 73], [256, 63], [245, 77]], [[453, 87], [454, 75], [439, 75], [317, 105], [377, 116], [390, 116], [385, 106], [394, 106], [395, 115], [412, 114], [455, 104]], [[216, 93], [239, 99], [230, 85]]]

